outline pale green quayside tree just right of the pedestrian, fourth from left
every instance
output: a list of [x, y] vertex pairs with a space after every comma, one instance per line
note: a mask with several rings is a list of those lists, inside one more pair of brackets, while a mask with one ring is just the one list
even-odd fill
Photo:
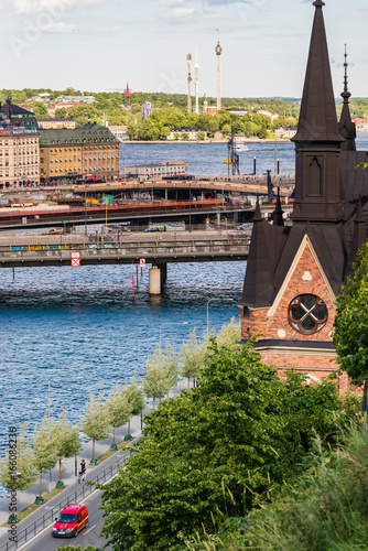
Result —
[[86, 402], [86, 413], [80, 419], [80, 428], [83, 432], [93, 441], [93, 458], [91, 465], [98, 465], [95, 460], [95, 442], [106, 440], [109, 436], [111, 429], [110, 410], [104, 400], [102, 387], [100, 388], [97, 398], [89, 391]]

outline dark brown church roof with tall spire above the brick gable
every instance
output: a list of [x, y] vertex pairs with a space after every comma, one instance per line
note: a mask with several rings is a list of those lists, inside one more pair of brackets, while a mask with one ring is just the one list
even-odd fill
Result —
[[[368, 152], [340, 151], [329, 58], [316, 0], [296, 142], [293, 226], [283, 227], [277, 204], [270, 225], [256, 208], [240, 304], [270, 307], [303, 239], [307, 236], [335, 295], [339, 294], [357, 250], [367, 240], [368, 180], [357, 164]], [[353, 140], [354, 141], [354, 140]]]

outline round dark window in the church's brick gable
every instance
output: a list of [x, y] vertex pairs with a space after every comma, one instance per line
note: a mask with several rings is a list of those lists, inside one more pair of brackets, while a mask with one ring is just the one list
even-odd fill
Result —
[[289, 323], [299, 333], [312, 335], [326, 325], [327, 306], [314, 294], [300, 294], [289, 306]]

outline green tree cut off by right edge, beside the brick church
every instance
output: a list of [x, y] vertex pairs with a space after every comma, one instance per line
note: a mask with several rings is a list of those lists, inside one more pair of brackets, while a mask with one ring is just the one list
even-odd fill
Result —
[[353, 385], [364, 385], [361, 410], [368, 412], [368, 244], [358, 251], [354, 274], [337, 298], [334, 345], [337, 361]]

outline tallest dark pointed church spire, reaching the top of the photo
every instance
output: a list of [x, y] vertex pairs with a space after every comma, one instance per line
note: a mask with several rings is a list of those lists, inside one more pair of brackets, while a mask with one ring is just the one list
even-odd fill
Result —
[[343, 219], [340, 144], [322, 0], [315, 7], [297, 132], [294, 222]]

